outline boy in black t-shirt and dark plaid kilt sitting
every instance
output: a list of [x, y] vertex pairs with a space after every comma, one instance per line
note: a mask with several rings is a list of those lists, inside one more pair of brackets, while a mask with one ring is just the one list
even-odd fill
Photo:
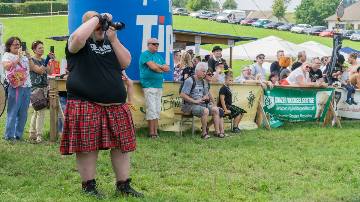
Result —
[[[234, 125], [232, 133], [244, 133], [242, 130], [239, 129], [238, 125], [240, 123], [240, 120], [243, 118], [244, 113], [246, 113], [245, 110], [241, 109], [238, 106], [231, 105], [233, 102], [232, 97], [232, 91], [233, 91], [233, 80], [234, 77], [231, 74], [225, 75], [225, 84], [220, 88], [219, 91], [219, 101], [217, 102], [217, 106], [224, 109], [225, 112], [229, 113], [229, 119], [234, 119]], [[231, 87], [231, 89], [230, 89]]]

